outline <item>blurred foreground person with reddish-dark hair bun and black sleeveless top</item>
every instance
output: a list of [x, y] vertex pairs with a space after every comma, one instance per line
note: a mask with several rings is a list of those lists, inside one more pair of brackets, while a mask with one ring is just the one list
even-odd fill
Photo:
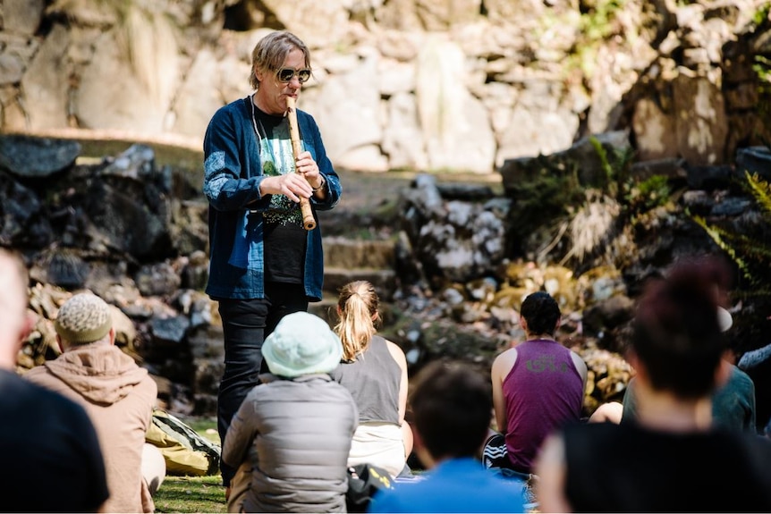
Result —
[[648, 282], [631, 337], [636, 419], [550, 436], [536, 467], [542, 510], [771, 511], [771, 443], [710, 416], [710, 395], [731, 372], [710, 294], [726, 281], [719, 269], [675, 265]]

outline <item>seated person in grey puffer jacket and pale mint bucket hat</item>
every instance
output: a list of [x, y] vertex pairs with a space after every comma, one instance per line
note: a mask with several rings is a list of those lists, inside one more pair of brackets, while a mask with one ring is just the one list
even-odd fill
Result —
[[329, 376], [343, 355], [340, 339], [318, 316], [295, 312], [267, 336], [262, 355], [270, 374], [260, 375], [225, 437], [222, 459], [239, 470], [228, 510], [344, 512], [359, 413]]

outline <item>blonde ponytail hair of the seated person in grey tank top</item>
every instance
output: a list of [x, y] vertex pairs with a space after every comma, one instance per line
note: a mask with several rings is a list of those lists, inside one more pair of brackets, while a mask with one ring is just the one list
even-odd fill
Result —
[[335, 333], [343, 342], [344, 360], [356, 360], [367, 350], [369, 341], [377, 333], [375, 324], [380, 320], [379, 306], [375, 287], [367, 281], [349, 282], [340, 288], [337, 299], [340, 320], [335, 325]]

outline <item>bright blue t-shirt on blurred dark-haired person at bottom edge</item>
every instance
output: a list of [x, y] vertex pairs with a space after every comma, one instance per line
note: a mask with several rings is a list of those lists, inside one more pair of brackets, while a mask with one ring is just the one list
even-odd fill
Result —
[[449, 459], [415, 480], [375, 494], [369, 512], [524, 512], [522, 483], [477, 459]]

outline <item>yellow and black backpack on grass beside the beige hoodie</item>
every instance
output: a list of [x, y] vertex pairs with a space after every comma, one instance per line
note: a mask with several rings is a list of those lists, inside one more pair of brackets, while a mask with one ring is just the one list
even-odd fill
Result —
[[219, 472], [219, 445], [165, 410], [153, 411], [145, 441], [161, 451], [168, 475], [205, 476]]

